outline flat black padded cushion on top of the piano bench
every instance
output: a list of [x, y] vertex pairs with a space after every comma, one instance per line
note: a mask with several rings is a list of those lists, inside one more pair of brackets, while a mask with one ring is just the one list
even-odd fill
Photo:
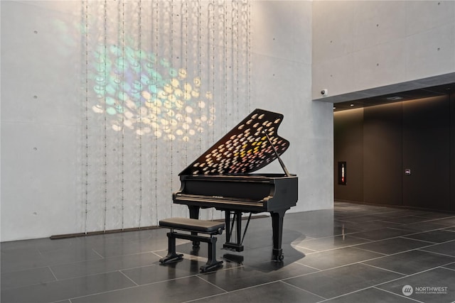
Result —
[[159, 221], [159, 226], [181, 229], [183, 231], [197, 231], [199, 233], [218, 233], [225, 229], [225, 224], [215, 221], [204, 221], [189, 218], [168, 218]]

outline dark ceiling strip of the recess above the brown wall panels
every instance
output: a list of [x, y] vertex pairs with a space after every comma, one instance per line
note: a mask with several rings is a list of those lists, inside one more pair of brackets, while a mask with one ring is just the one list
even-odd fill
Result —
[[444, 96], [449, 95], [453, 92], [455, 92], [455, 82], [450, 84], [441, 84], [435, 87], [426, 87], [424, 89], [413, 89], [407, 92], [398, 92], [394, 94], [385, 94], [378, 97], [368, 97], [364, 99], [340, 102], [333, 104], [333, 111], [345, 111], [346, 109], [358, 109], [362, 107], [387, 104], [398, 101]]

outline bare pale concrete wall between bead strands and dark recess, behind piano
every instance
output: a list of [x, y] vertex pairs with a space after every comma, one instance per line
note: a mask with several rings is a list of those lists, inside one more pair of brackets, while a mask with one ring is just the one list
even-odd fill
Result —
[[[253, 107], [284, 114], [283, 155], [299, 177], [299, 202], [289, 210], [333, 207], [333, 109], [311, 101], [311, 1], [253, 1]], [[260, 76], [259, 76], [260, 75]], [[269, 172], [282, 172], [279, 163]]]

